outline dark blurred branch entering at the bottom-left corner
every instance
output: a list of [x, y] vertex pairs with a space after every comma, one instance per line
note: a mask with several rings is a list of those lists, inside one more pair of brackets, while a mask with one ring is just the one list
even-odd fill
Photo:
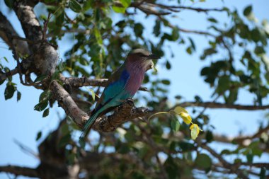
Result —
[[38, 171], [35, 168], [21, 167], [21, 166], [0, 166], [0, 173], [12, 173], [14, 175], [23, 175], [28, 177], [38, 178]]

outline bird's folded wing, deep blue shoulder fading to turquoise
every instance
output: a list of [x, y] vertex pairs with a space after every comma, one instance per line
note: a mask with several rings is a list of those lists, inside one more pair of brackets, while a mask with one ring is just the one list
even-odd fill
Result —
[[128, 80], [130, 79], [130, 74], [126, 69], [119, 69], [112, 76], [110, 76], [108, 86], [105, 87], [101, 98], [96, 103], [96, 108], [93, 112], [98, 111], [105, 104], [109, 103], [110, 100], [118, 96], [122, 90], [124, 90]]

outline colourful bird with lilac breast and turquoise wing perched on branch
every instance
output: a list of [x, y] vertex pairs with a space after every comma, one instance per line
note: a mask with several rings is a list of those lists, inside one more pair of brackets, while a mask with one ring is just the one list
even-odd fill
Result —
[[91, 112], [91, 117], [84, 125], [79, 139], [86, 136], [99, 116], [135, 96], [142, 84], [144, 74], [154, 67], [152, 59], [160, 59], [160, 57], [142, 48], [132, 50], [127, 54], [125, 62], [108, 79], [108, 85], [104, 88], [96, 107]]

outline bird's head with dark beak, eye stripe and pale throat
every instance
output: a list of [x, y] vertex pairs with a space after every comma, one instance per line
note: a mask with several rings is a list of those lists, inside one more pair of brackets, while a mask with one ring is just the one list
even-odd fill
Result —
[[160, 59], [160, 57], [144, 49], [132, 50], [127, 55], [128, 64], [141, 67], [145, 71], [154, 67], [152, 59]]

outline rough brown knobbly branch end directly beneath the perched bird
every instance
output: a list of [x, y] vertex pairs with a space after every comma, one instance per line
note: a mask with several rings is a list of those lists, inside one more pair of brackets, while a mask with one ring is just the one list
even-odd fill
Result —
[[127, 99], [114, 110], [112, 115], [99, 117], [93, 125], [93, 129], [100, 132], [113, 132], [119, 125], [137, 117], [144, 117], [150, 114], [148, 108], [136, 108], [134, 100]]

